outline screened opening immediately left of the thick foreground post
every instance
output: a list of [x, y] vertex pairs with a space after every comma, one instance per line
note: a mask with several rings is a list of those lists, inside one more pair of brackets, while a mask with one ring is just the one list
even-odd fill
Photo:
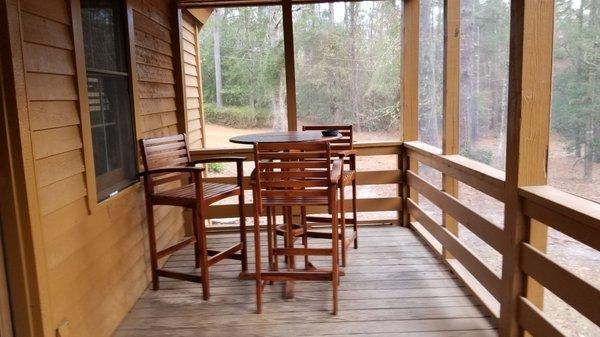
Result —
[[510, 2], [460, 3], [460, 153], [504, 170]]

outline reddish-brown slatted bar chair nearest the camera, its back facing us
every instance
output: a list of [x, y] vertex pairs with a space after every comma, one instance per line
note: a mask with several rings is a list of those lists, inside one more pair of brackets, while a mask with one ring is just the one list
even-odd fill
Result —
[[[273, 223], [267, 222], [269, 256], [286, 256], [288, 268], [285, 271], [273, 270], [269, 261], [269, 271], [261, 269], [260, 223], [259, 217], [270, 215], [275, 207], [282, 207], [291, 213], [293, 206], [326, 206], [328, 212], [337, 212], [338, 183], [342, 174], [342, 160], [330, 160], [331, 152], [327, 142], [310, 143], [260, 143], [254, 144], [255, 179], [254, 193], [254, 241], [256, 259], [256, 305], [262, 313], [262, 291], [264, 285], [273, 281], [331, 281], [333, 288], [333, 314], [337, 314], [337, 287], [339, 283], [339, 255], [337, 235], [332, 235], [331, 248], [295, 248], [291, 216], [287, 216], [284, 248], [274, 248], [271, 242]], [[266, 210], [270, 210], [266, 212]], [[332, 217], [332, 231], [337, 233], [337, 217]], [[295, 256], [331, 256], [332, 268], [328, 270], [298, 270]]]

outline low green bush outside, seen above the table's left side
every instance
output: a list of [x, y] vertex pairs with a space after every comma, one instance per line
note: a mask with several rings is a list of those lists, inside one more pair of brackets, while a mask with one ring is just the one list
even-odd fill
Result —
[[270, 124], [270, 114], [267, 110], [253, 109], [249, 106], [217, 109], [214, 103], [207, 103], [204, 105], [204, 116], [210, 123], [239, 129], [266, 127]]

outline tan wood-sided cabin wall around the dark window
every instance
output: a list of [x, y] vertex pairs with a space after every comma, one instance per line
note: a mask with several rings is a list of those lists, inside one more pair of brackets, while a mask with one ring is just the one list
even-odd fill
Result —
[[[128, 10], [137, 137], [176, 134], [183, 126], [176, 114], [171, 7], [167, 0], [128, 0]], [[29, 111], [22, 122], [32, 141], [43, 233], [38, 249], [48, 275], [45, 315], [52, 330], [68, 326], [68, 336], [110, 336], [150, 280], [143, 188], [138, 183], [90, 205], [87, 181], [95, 178], [88, 180], [85, 155], [92, 147], [82, 136], [89, 130], [79, 104], [87, 100], [80, 102], [78, 90], [85, 73], [75, 62], [70, 1], [21, 0], [19, 15]], [[155, 217], [159, 248], [183, 236], [180, 208], [155, 208]]]

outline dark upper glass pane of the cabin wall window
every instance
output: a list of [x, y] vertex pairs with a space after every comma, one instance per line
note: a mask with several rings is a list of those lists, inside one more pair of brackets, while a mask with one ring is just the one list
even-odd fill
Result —
[[81, 2], [85, 63], [88, 68], [127, 72], [123, 4], [112, 0]]

